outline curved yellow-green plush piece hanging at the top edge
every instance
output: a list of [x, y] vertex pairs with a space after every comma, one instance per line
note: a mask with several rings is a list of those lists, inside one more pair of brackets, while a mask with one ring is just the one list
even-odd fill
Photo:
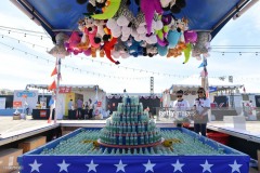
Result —
[[107, 6], [104, 8], [104, 12], [102, 14], [92, 15], [95, 19], [108, 19], [115, 16], [120, 5], [119, 0], [109, 0]]

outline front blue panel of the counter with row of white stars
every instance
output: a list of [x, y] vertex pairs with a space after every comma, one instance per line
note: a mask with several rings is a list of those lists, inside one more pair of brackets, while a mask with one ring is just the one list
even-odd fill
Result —
[[[63, 156], [62, 159], [53, 158], [26, 158], [27, 165], [22, 169], [21, 173], [244, 173], [248, 164], [243, 163], [239, 159], [230, 159], [227, 162], [220, 157], [217, 159], [196, 157], [191, 160], [184, 160], [182, 157], [171, 159], [162, 156], [148, 158], [141, 157], [112, 157], [110, 159], [102, 157], [78, 160], [78, 157]], [[28, 159], [28, 160], [27, 160]], [[132, 159], [132, 160], [131, 160]], [[223, 162], [224, 161], [224, 162]], [[224, 170], [224, 171], [223, 171]]]

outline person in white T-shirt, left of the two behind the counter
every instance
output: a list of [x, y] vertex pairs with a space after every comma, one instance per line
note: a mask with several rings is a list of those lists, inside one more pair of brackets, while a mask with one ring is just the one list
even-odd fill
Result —
[[186, 110], [190, 109], [190, 104], [183, 98], [183, 91], [177, 91], [177, 101], [173, 102], [172, 108], [174, 110], [174, 118], [177, 120], [177, 127], [182, 127], [182, 121], [187, 117]]

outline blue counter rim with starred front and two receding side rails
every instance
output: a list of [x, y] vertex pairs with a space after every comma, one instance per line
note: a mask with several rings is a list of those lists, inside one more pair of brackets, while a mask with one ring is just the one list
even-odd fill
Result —
[[[221, 147], [224, 155], [40, 155], [44, 148], [53, 148], [62, 141], [68, 139], [78, 133], [79, 129], [61, 138], [57, 138], [40, 148], [31, 150], [18, 157], [18, 163], [23, 168], [21, 173], [28, 172], [98, 172], [98, 173], [202, 173], [202, 172], [249, 172], [249, 156], [226, 147], [209, 138], [199, 136], [186, 129], [160, 129], [164, 130], [180, 130], [183, 133], [198, 138], [204, 144], [207, 144], [216, 149]], [[89, 129], [83, 129], [89, 130]]]

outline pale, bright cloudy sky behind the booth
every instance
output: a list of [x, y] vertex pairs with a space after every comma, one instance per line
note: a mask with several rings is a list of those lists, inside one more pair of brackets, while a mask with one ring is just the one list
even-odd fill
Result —
[[[260, 53], [259, 55], [256, 53], [239, 55], [239, 50], [213, 49], [217, 48], [213, 45], [260, 46], [259, 9], [258, 2], [239, 18], [231, 19], [213, 38], [207, 66], [209, 78], [225, 77], [227, 82], [227, 76], [233, 76], [233, 84], [244, 84], [248, 93], [260, 93]], [[47, 49], [53, 48], [53, 43], [44, 30], [8, 0], [1, 1], [0, 26], [0, 89], [24, 90], [26, 84], [30, 83], [51, 84], [54, 80], [51, 72], [55, 66], [55, 57], [47, 53]], [[34, 34], [37, 37], [29, 32], [25, 36], [25, 31], [9, 34], [2, 27], [41, 34]], [[232, 51], [237, 53], [224, 53], [224, 55], [220, 53]], [[240, 51], [251, 52], [252, 50]], [[121, 64], [115, 66], [107, 58], [92, 58], [83, 54], [68, 56], [62, 59], [64, 66], [61, 69], [61, 84], [99, 84], [107, 93], [122, 93], [123, 89], [129, 93], [150, 93], [150, 77], [154, 77], [155, 93], [161, 93], [171, 84], [182, 84], [182, 81], [186, 81], [187, 78], [191, 79], [191, 84], [199, 83], [202, 68], [198, 66], [202, 62], [191, 57], [188, 63], [183, 65], [183, 59], [182, 56], [178, 58], [129, 57], [119, 59]], [[104, 75], [110, 77], [104, 77]]]

